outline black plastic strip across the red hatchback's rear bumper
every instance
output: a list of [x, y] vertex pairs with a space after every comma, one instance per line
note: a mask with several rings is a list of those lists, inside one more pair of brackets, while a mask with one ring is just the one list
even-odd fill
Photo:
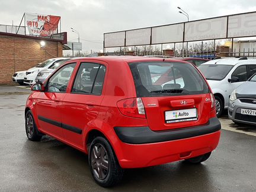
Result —
[[143, 144], [165, 142], [169, 140], [185, 139], [209, 133], [217, 132], [221, 129], [220, 121], [217, 117], [209, 119], [207, 124], [202, 126], [186, 127], [174, 130], [164, 130], [154, 132], [146, 127], [114, 127], [119, 139], [124, 143]]

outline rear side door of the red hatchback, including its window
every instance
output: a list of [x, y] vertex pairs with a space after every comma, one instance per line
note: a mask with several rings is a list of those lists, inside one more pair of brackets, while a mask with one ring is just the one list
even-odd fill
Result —
[[81, 62], [71, 92], [63, 99], [62, 124], [65, 140], [83, 148], [82, 133], [97, 118], [103, 100], [106, 64]]

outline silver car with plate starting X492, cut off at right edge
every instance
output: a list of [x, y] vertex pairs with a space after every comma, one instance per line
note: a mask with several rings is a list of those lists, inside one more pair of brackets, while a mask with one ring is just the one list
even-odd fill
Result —
[[236, 124], [256, 125], [256, 73], [232, 92], [228, 116]]

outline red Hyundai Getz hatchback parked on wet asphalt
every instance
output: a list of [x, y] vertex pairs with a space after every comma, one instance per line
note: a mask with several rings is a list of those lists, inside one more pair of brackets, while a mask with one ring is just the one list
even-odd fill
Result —
[[[170, 78], [156, 83], [167, 71]], [[219, 142], [212, 91], [181, 60], [78, 58], [31, 89], [28, 139], [46, 134], [87, 153], [92, 176], [104, 187], [118, 183], [125, 168], [206, 161]]]

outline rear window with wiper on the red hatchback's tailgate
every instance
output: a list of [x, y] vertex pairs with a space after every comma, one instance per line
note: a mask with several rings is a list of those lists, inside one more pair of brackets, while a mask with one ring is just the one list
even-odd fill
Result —
[[209, 93], [194, 66], [174, 62], [130, 63], [137, 97], [193, 95]]

